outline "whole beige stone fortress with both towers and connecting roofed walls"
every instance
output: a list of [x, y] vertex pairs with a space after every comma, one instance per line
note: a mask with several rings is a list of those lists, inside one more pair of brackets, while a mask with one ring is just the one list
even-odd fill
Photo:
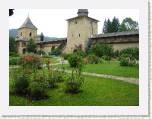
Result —
[[75, 47], [86, 50], [88, 44], [107, 43], [112, 44], [114, 50], [121, 50], [127, 47], [139, 47], [139, 32], [117, 32], [98, 34], [98, 20], [88, 16], [87, 9], [79, 9], [78, 16], [67, 19], [67, 38], [54, 38], [50, 41], [40, 40], [37, 35], [37, 28], [33, 25], [29, 16], [23, 25], [18, 29], [16, 37], [19, 54], [26, 52], [26, 45], [29, 39], [37, 44], [37, 50], [49, 54], [52, 47], [65, 45], [64, 53], [71, 53]]

